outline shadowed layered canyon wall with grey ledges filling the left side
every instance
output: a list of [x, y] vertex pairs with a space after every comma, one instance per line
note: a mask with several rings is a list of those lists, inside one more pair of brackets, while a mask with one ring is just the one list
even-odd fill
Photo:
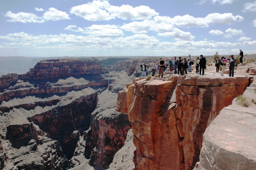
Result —
[[96, 60], [63, 59], [1, 76], [1, 166], [66, 169], [98, 101], [89, 87], [106, 89], [105, 72]]

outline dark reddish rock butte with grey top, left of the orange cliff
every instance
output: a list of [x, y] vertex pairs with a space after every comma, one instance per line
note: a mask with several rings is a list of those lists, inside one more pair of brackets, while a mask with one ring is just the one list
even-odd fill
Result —
[[131, 124], [128, 115], [115, 108], [92, 115], [91, 127], [85, 134], [85, 156], [91, 165], [108, 168], [114, 154], [123, 147]]

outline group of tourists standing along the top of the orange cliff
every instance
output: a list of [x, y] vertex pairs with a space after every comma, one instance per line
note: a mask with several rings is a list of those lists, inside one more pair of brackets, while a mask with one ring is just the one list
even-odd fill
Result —
[[[239, 50], [240, 53], [240, 64], [243, 64], [243, 51]], [[216, 72], [219, 72], [219, 68], [221, 66], [221, 76], [223, 76], [227, 62], [229, 61], [229, 76], [234, 77], [234, 68], [235, 68], [235, 64], [236, 64], [236, 59], [234, 58], [234, 55], [230, 55], [227, 59], [226, 57], [221, 57], [221, 59], [218, 57], [216, 59], [215, 62], [215, 66], [216, 66]], [[189, 69], [189, 72], [192, 72], [192, 65], [195, 64], [195, 73], [200, 74], [200, 75], [204, 75], [204, 69], [206, 68], [206, 58], [201, 54], [200, 57], [196, 57], [194, 60], [191, 57], [191, 55], [189, 54], [188, 56], [188, 60], [186, 58], [181, 59], [181, 57], [176, 58], [174, 57], [174, 59], [171, 59], [170, 57], [168, 58], [168, 65], [169, 65], [169, 70], [170, 70], [170, 74], [173, 74], [173, 70], [174, 70], [174, 74], [179, 74], [179, 76], [183, 76], [184, 72], [185, 74], [187, 74], [187, 69]], [[155, 76], [155, 74], [158, 74], [158, 77], [163, 77], [164, 76], [164, 68], [165, 68], [165, 63], [164, 60], [162, 60], [162, 58], [160, 58], [160, 61], [156, 64], [156, 62], [154, 61], [154, 63], [148, 64], [152, 66], [152, 76]], [[141, 71], [142, 71], [142, 76], [145, 77], [146, 76], [146, 65], [145, 63], [143, 63], [142, 65], [140, 65], [141, 67]], [[178, 69], [178, 72], [177, 72]]]

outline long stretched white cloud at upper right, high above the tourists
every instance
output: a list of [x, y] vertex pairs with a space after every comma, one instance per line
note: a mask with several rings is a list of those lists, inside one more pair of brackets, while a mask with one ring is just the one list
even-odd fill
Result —
[[206, 17], [195, 18], [190, 15], [175, 16], [173, 18], [167, 16], [156, 16], [154, 17], [155, 22], [170, 23], [176, 26], [185, 27], [209, 27], [209, 24], [231, 24], [234, 22], [243, 21], [243, 17], [240, 15], [234, 16], [232, 13], [212, 13], [208, 14]]

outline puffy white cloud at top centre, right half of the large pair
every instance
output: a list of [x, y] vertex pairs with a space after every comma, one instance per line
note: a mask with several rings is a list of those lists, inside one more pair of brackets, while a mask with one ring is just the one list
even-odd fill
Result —
[[123, 20], [145, 20], [158, 15], [155, 10], [144, 5], [134, 8], [130, 5], [111, 6], [107, 10], [112, 13], [112, 16]]

